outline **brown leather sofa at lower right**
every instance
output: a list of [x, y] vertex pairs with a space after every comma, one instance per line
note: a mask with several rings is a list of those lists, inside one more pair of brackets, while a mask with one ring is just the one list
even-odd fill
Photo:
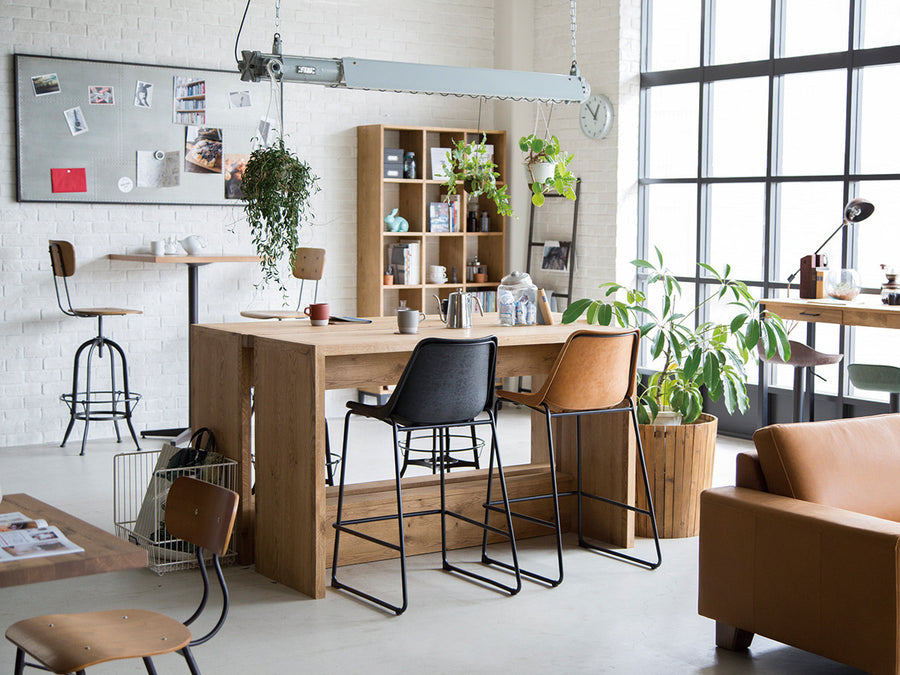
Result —
[[776, 424], [700, 497], [699, 611], [716, 644], [755, 633], [900, 673], [900, 415]]

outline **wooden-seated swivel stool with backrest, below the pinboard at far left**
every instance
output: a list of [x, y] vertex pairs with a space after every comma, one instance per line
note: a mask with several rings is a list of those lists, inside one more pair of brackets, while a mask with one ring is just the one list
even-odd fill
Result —
[[[137, 434], [135, 434], [134, 427], [131, 425], [131, 412], [134, 405], [140, 400], [141, 395], [128, 388], [128, 361], [125, 358], [125, 352], [116, 342], [103, 335], [103, 317], [142, 314], [142, 312], [138, 309], [124, 309], [121, 307], [72, 307], [68, 284], [68, 278], [75, 274], [75, 249], [72, 244], [68, 241], [51, 241], [50, 263], [53, 267], [53, 286], [56, 290], [56, 302], [59, 304], [63, 314], [97, 319], [97, 335], [83, 342], [75, 352], [75, 363], [72, 369], [72, 393], [60, 396], [60, 400], [69, 407], [69, 426], [66, 427], [66, 433], [63, 435], [60, 447], [64, 448], [66, 446], [66, 441], [72, 432], [75, 420], [84, 421], [84, 434], [81, 438], [82, 455], [87, 442], [88, 426], [92, 420], [112, 420], [116, 429], [116, 440], [121, 443], [119, 420], [123, 419], [128, 424], [128, 430], [131, 432], [135, 446], [140, 450]], [[63, 292], [66, 298], [65, 304], [62, 301], [62, 294], [59, 292], [60, 279], [62, 279]], [[78, 371], [81, 355], [85, 350], [87, 350], [87, 363], [84, 369], [84, 388], [81, 389], [79, 388]], [[109, 354], [109, 389], [97, 390], [91, 387], [91, 377], [93, 375], [91, 360], [95, 351], [98, 358], [102, 359], [104, 350]], [[119, 356], [122, 368], [122, 389], [118, 389], [116, 385], [116, 354]]]

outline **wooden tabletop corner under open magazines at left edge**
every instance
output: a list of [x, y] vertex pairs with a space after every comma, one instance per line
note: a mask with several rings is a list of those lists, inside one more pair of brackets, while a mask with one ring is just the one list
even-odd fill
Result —
[[43, 518], [48, 525], [55, 525], [84, 552], [2, 562], [0, 588], [147, 566], [147, 551], [139, 546], [34, 497], [26, 494], [3, 495], [0, 513], [16, 511], [30, 518]]

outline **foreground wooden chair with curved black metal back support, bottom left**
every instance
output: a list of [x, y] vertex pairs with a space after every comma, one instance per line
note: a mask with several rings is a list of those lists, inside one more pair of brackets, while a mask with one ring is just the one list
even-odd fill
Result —
[[[176, 478], [169, 489], [166, 529], [173, 537], [196, 548], [197, 564], [203, 578], [200, 605], [190, 618], [182, 623], [156, 612], [118, 609], [25, 619], [6, 631], [6, 638], [16, 645], [16, 675], [22, 675], [26, 665], [51, 673], [80, 674], [98, 663], [136, 658], [143, 659], [147, 672], [153, 675], [156, 669], [151, 657], [172, 652], [184, 657], [191, 673], [199, 673], [191, 647], [210, 640], [228, 616], [228, 587], [219, 556], [228, 549], [237, 506], [236, 492], [195, 478]], [[188, 626], [203, 613], [209, 599], [204, 551], [211, 555], [222, 591], [222, 612], [206, 635], [195, 638]], [[26, 655], [38, 663], [26, 663]]]

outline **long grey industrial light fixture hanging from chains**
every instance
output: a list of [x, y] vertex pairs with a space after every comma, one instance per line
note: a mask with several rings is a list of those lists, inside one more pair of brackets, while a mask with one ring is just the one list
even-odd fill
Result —
[[[248, 0], [247, 7], [249, 6]], [[346, 89], [580, 103], [590, 95], [591, 88], [581, 77], [575, 58], [575, 0], [570, 0], [570, 13], [572, 66], [568, 75], [376, 61], [353, 57], [285, 56], [281, 53], [281, 36], [277, 32], [272, 53], [243, 50], [242, 58], [237, 59], [237, 62], [241, 79], [252, 82], [274, 74], [282, 82], [321, 84]], [[246, 15], [245, 9], [244, 16]]]

